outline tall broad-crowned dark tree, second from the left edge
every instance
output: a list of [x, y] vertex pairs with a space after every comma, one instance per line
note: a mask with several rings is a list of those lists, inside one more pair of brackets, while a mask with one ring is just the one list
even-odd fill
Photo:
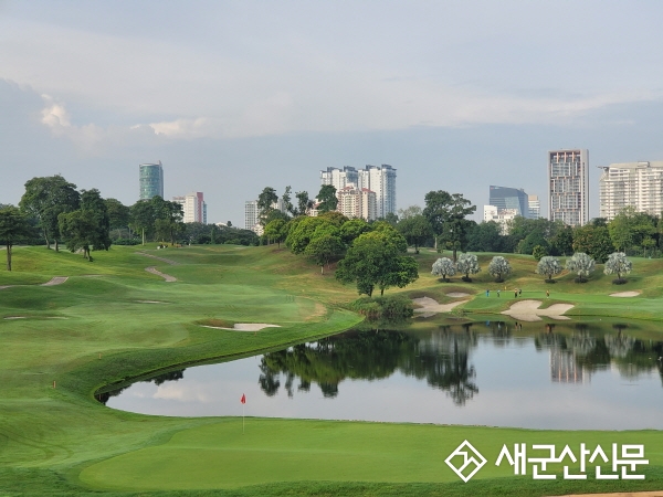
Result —
[[19, 207], [28, 215], [38, 220], [38, 226], [51, 248], [51, 240], [55, 242], [59, 251], [59, 221], [63, 212], [78, 209], [81, 195], [76, 186], [66, 181], [62, 176], [32, 178], [25, 183], [25, 193], [21, 197]]

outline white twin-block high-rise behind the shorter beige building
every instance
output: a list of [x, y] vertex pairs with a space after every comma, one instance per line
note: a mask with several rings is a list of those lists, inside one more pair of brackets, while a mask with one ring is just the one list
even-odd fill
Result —
[[377, 215], [385, 218], [388, 213], [396, 213], [396, 169], [383, 163], [382, 166], [366, 166], [356, 170], [345, 166], [341, 169], [327, 168], [320, 171], [322, 184], [332, 184], [336, 191], [349, 184], [357, 189], [367, 189], [376, 193]]

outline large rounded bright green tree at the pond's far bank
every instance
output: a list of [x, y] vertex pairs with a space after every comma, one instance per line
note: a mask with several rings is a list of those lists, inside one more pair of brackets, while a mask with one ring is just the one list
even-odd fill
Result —
[[356, 283], [359, 295], [370, 297], [376, 286], [382, 295], [391, 286], [402, 288], [419, 277], [417, 261], [402, 255], [408, 242], [389, 224], [386, 226], [361, 234], [338, 263], [336, 278]]

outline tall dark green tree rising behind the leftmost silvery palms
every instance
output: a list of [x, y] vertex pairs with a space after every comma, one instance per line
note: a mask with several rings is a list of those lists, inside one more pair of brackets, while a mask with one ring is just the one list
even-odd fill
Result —
[[456, 253], [465, 245], [467, 231], [472, 226], [472, 222], [465, 216], [474, 213], [476, 205], [472, 205], [461, 193], [449, 194], [443, 190], [428, 192], [424, 201], [423, 215], [429, 220], [433, 233], [441, 236], [446, 246], [453, 251], [455, 261]]

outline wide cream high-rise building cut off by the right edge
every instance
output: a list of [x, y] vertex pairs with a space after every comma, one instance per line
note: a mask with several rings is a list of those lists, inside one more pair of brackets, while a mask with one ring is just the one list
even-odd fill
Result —
[[614, 219], [625, 207], [660, 215], [663, 211], [663, 161], [621, 162], [601, 168], [599, 215]]

